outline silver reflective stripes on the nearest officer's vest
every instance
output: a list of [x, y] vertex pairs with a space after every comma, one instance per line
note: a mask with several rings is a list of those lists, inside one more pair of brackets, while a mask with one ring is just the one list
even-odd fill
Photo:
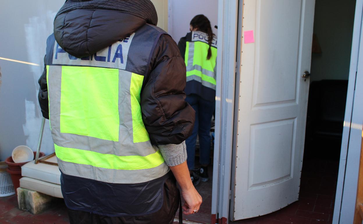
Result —
[[[158, 150], [150, 141], [134, 143], [130, 97], [131, 72], [125, 70], [118, 71], [120, 80], [118, 88], [120, 125], [119, 141], [114, 142], [111, 140], [60, 132], [62, 66], [49, 66], [48, 92], [50, 102], [50, 126], [52, 128], [53, 141], [57, 146], [117, 156], [147, 156]], [[169, 171], [169, 168], [165, 163], [162, 163], [158, 167], [144, 170], [113, 170], [65, 162], [60, 159], [58, 159], [58, 165], [60, 170], [65, 174], [108, 183], [142, 183], [159, 178]]]

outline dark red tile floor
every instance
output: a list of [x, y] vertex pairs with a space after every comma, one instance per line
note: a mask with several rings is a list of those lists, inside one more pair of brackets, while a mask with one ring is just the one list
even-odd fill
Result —
[[[211, 169], [208, 170], [211, 174]], [[268, 215], [230, 222], [232, 224], [330, 224], [332, 223], [338, 162], [333, 160], [304, 160], [300, 199]], [[212, 180], [197, 186], [203, 204], [196, 214], [183, 216], [186, 221], [210, 223]], [[16, 196], [0, 197], [0, 224], [67, 224], [64, 202], [60, 199], [39, 215], [17, 208]], [[177, 222], [175, 222], [176, 224]]]

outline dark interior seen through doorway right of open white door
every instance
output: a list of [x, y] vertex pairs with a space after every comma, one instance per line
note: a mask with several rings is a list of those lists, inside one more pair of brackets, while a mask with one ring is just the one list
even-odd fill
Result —
[[[356, 0], [316, 1], [300, 202], [332, 223], [346, 109]], [[339, 15], [339, 16], [337, 16]], [[304, 207], [305, 206], [305, 207]]]

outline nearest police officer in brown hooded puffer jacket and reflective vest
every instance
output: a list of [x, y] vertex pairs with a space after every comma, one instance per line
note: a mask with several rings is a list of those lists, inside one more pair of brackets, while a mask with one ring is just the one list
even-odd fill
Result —
[[184, 214], [199, 210], [185, 65], [157, 20], [150, 0], [67, 0], [56, 15], [39, 102], [71, 223], [173, 223], [175, 180]]

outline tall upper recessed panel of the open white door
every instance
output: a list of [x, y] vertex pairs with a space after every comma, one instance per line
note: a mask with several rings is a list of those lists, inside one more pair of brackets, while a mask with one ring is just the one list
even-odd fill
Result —
[[253, 105], [295, 101], [300, 17], [299, 0], [257, 2]]

